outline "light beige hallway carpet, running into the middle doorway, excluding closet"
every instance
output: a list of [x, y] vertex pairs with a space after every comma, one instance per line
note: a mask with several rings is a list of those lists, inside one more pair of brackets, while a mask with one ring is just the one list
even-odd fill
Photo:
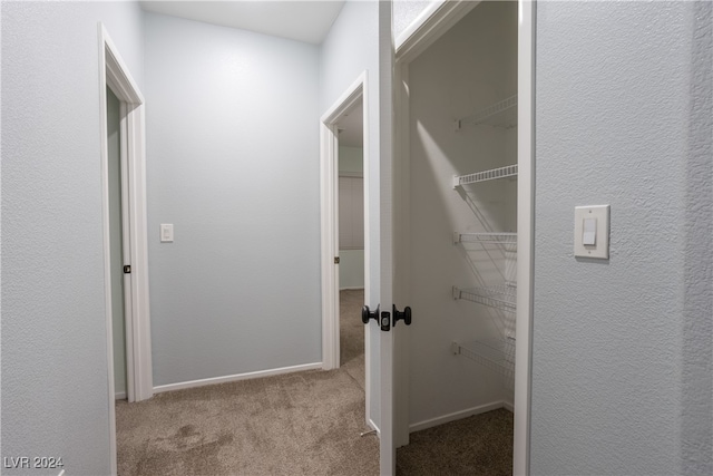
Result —
[[[342, 299], [345, 363], [339, 370], [177, 390], [131, 405], [118, 401], [118, 474], [378, 475], [379, 441], [360, 437], [370, 428], [364, 422], [359, 293], [349, 291]], [[360, 337], [361, 344], [352, 342]]]

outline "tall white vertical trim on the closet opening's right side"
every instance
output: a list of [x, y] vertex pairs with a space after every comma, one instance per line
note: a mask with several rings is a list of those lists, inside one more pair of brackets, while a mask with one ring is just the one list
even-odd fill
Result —
[[535, 244], [535, 2], [518, 1], [517, 322], [512, 474], [529, 474]]

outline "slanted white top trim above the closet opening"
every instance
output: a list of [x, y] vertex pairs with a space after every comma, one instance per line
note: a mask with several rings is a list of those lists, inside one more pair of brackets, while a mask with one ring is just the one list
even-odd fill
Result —
[[476, 8], [480, 0], [431, 2], [395, 39], [397, 62], [408, 65]]

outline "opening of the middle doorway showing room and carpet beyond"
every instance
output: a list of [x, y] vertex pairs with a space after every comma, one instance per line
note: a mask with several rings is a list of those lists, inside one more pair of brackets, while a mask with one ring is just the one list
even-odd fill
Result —
[[364, 128], [359, 98], [336, 123], [340, 367], [364, 389]]

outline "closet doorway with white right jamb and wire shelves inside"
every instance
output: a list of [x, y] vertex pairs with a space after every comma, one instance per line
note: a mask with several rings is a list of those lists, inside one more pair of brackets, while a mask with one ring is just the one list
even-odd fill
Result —
[[407, 426], [497, 410], [515, 474], [529, 446], [531, 27], [529, 2], [443, 2], [397, 38], [397, 225], [411, 237], [398, 281], [419, 315]]

